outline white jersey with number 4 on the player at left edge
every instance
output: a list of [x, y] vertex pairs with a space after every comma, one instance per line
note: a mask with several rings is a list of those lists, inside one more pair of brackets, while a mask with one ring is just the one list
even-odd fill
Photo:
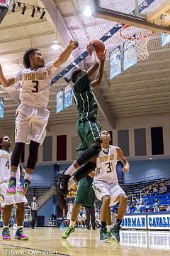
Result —
[[[0, 183], [6, 182], [10, 178], [11, 170], [11, 151], [0, 149]], [[20, 168], [16, 173], [16, 181], [20, 180]]]

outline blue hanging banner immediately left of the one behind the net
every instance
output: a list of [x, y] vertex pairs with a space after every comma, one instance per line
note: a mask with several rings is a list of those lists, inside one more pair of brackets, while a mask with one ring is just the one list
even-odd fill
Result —
[[121, 73], [121, 53], [120, 46], [115, 48], [109, 55], [110, 62], [110, 79]]

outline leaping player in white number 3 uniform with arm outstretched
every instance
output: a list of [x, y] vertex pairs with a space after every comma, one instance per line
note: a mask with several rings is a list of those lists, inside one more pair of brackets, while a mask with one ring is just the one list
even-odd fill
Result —
[[33, 176], [38, 159], [38, 147], [45, 139], [45, 129], [50, 112], [47, 110], [50, 95], [50, 83], [56, 68], [60, 67], [77, 48], [77, 41], [70, 41], [69, 46], [54, 62], [45, 65], [45, 59], [40, 50], [31, 48], [23, 56], [25, 68], [13, 78], [6, 79], [0, 65], [0, 82], [4, 87], [13, 85], [21, 80], [21, 105], [16, 110], [16, 138], [15, 148], [11, 156], [11, 177], [7, 193], [16, 194], [16, 170], [26, 143], [30, 143], [26, 174], [17, 191], [21, 196], [26, 194]]

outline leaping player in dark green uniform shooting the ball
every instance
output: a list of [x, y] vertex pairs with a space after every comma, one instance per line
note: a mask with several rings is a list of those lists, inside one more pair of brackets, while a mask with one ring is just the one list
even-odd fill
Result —
[[[98, 105], [94, 95], [93, 87], [100, 85], [103, 68], [106, 60], [106, 51], [103, 57], [99, 58], [100, 63], [96, 63], [88, 71], [77, 69], [72, 73], [73, 97], [79, 112], [77, 117], [77, 132], [79, 134], [81, 147], [87, 149], [67, 171], [60, 171], [59, 182], [56, 185], [57, 201], [60, 208], [65, 207], [65, 195], [77, 181], [84, 178], [96, 168], [96, 157], [101, 151], [101, 126], [98, 124]], [[98, 69], [96, 79], [91, 82], [91, 76]], [[80, 167], [81, 166], [81, 167]], [[78, 170], [77, 170], [78, 169]], [[74, 174], [74, 176], [72, 176]], [[71, 178], [72, 176], [72, 178]], [[70, 179], [70, 181], [69, 181]]]

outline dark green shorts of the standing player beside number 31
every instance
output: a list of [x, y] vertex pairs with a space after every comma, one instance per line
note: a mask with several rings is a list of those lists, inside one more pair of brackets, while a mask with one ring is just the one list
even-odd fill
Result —
[[84, 207], [94, 207], [95, 193], [94, 188], [92, 188], [93, 181], [94, 179], [89, 176], [81, 179], [74, 203], [81, 203]]

